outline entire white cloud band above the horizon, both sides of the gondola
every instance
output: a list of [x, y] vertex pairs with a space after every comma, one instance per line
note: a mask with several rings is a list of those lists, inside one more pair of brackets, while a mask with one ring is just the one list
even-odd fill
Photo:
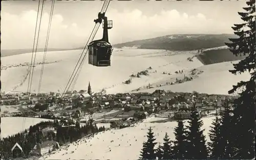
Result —
[[[96, 14], [95, 14], [96, 15]], [[1, 38], [2, 48], [32, 48], [37, 13], [34, 10], [12, 15], [2, 12]], [[77, 15], [73, 15], [77, 16]], [[121, 43], [136, 39], [152, 38], [168, 34], [182, 33], [225, 33], [224, 24], [217, 20], [208, 19], [205, 15], [188, 15], [177, 10], [162, 10], [160, 14], [144, 15], [139, 9], [132, 11], [108, 10], [109, 20], [113, 20], [113, 29], [109, 31], [111, 43]], [[65, 17], [54, 14], [51, 24], [49, 47], [72, 48], [86, 43], [94, 23], [91, 15], [82, 17], [86, 25], [78, 25], [73, 21], [65, 23]], [[96, 17], [95, 17], [96, 18]], [[87, 22], [90, 23], [87, 23]], [[49, 23], [49, 14], [44, 13], [41, 21], [39, 46], [45, 46], [46, 33]], [[98, 31], [95, 39], [101, 38], [102, 29]]]

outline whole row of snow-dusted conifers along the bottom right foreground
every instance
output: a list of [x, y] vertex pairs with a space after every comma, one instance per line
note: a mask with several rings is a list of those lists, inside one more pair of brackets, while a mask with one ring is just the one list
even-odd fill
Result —
[[[231, 116], [232, 111], [225, 105], [225, 111], [217, 116], [212, 122], [209, 130], [210, 142], [206, 143], [202, 129], [203, 122], [196, 109], [193, 110], [188, 125], [178, 121], [174, 129], [175, 140], [171, 141], [166, 132], [163, 144], [157, 144], [153, 129], [148, 129], [147, 141], [143, 143], [140, 160], [143, 159], [238, 159], [236, 138], [232, 134]], [[252, 142], [244, 142], [244, 146], [250, 146]], [[248, 149], [245, 148], [246, 150]], [[239, 157], [252, 159], [254, 156], [253, 147], [246, 153], [240, 148], [243, 154]]]

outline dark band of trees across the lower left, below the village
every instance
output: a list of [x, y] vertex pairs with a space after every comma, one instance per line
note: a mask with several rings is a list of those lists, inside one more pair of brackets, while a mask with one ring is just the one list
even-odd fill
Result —
[[[53, 132], [48, 132], [44, 136], [41, 129], [46, 127], [54, 127], [57, 129], [57, 134], [55, 135]], [[74, 127], [62, 127], [54, 122], [40, 122], [34, 126], [30, 126], [29, 131], [25, 130], [24, 132], [4, 138], [0, 141], [1, 158], [8, 159], [12, 157], [11, 149], [15, 143], [18, 143], [23, 148], [24, 156], [28, 157], [37, 143], [54, 140], [59, 142], [61, 146], [64, 143], [74, 142], [84, 136], [104, 130], [104, 127], [98, 128], [96, 124], [93, 124], [93, 120], [89, 120], [87, 124], [82, 127], [78, 122]]]

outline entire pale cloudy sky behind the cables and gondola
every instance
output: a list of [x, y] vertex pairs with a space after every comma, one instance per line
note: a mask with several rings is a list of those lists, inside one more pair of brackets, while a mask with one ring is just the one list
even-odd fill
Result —
[[[32, 48], [38, 1], [2, 1], [1, 48]], [[56, 1], [48, 48], [83, 46], [103, 1]], [[113, 20], [112, 44], [170, 34], [232, 33], [240, 22], [244, 1], [111, 1], [106, 12]], [[39, 47], [45, 46], [51, 2], [42, 14]], [[95, 39], [102, 36], [99, 29]]]

